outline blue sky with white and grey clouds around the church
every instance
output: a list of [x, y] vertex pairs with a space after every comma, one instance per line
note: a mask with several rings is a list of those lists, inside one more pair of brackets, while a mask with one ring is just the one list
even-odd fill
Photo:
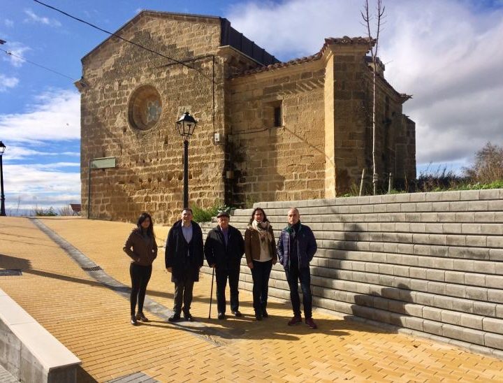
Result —
[[[141, 9], [226, 17], [282, 60], [312, 55], [323, 38], [364, 36], [363, 1], [47, 0], [116, 31]], [[503, 144], [503, 1], [384, 0], [379, 55], [386, 78], [413, 94], [404, 113], [416, 121], [418, 170], [454, 170], [487, 141]], [[80, 201], [80, 58], [108, 36], [31, 0], [2, 0], [0, 140], [6, 205], [55, 208]]]

